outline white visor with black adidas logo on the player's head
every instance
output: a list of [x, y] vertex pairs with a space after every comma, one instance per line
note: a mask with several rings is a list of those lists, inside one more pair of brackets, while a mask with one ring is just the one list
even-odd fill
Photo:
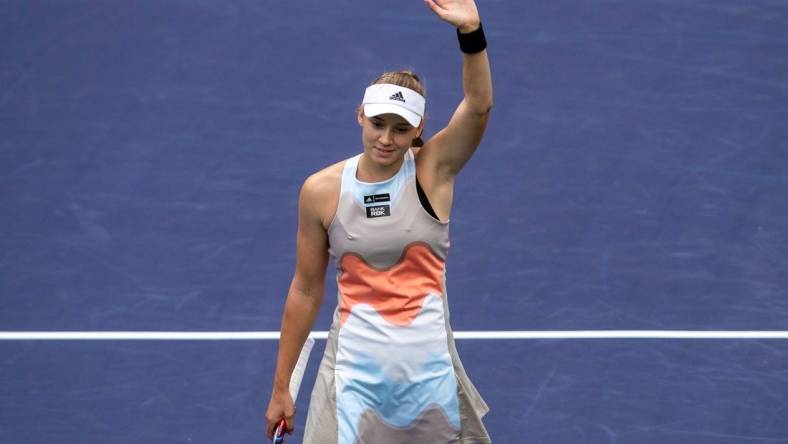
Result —
[[403, 86], [381, 83], [372, 85], [364, 93], [364, 115], [367, 117], [381, 114], [402, 116], [413, 127], [419, 126], [424, 117], [424, 97]]

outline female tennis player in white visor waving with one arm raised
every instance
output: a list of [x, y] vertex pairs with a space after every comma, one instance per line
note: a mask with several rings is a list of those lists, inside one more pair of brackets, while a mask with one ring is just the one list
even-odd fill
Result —
[[489, 443], [487, 405], [454, 344], [445, 287], [455, 177], [492, 107], [486, 41], [473, 0], [426, 0], [457, 29], [464, 98], [422, 143], [418, 76], [389, 72], [358, 110], [363, 152], [306, 179], [297, 259], [285, 303], [269, 438], [295, 409], [288, 387], [323, 299], [329, 256], [338, 304], [309, 405], [307, 444]]

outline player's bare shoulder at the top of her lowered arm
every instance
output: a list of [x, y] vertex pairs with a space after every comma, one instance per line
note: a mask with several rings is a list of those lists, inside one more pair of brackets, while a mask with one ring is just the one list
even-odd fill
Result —
[[317, 171], [307, 177], [301, 187], [302, 210], [318, 217], [326, 229], [331, 224], [339, 202], [344, 165], [345, 161], [342, 160]]

